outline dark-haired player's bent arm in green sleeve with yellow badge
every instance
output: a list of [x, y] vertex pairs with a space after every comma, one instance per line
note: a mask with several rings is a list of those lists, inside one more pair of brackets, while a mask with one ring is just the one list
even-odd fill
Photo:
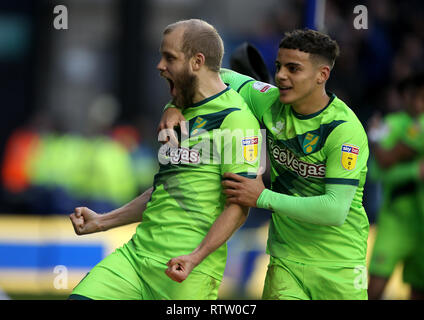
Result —
[[258, 199], [259, 205], [275, 207], [277, 214], [305, 222], [341, 226], [360, 180], [365, 179], [369, 156], [365, 131], [356, 121], [340, 124], [328, 136], [323, 152], [326, 155], [323, 195], [293, 197], [265, 190]]

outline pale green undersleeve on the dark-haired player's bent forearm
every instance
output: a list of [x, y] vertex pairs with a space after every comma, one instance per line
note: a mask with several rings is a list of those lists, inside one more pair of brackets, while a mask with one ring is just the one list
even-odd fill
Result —
[[258, 198], [257, 206], [303, 222], [341, 226], [349, 213], [356, 188], [327, 184], [325, 194], [313, 197], [288, 196], [265, 189]]

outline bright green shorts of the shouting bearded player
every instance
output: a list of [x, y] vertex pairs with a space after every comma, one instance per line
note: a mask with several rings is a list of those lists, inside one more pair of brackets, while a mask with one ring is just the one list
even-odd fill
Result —
[[193, 271], [181, 283], [166, 274], [167, 266], [137, 255], [128, 244], [99, 262], [74, 288], [70, 299], [216, 300], [220, 281]]

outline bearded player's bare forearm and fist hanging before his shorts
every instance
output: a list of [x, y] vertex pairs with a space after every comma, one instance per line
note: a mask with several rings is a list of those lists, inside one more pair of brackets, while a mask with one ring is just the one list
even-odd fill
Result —
[[172, 258], [168, 261], [165, 273], [172, 280], [184, 281], [190, 272], [209, 254], [222, 246], [246, 221], [248, 208], [231, 204], [215, 220], [209, 232], [190, 254]]

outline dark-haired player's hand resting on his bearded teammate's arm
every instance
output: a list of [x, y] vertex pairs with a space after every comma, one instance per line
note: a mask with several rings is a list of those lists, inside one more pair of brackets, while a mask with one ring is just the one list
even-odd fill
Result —
[[262, 174], [255, 179], [245, 178], [235, 173], [224, 173], [223, 192], [227, 195], [227, 205], [236, 203], [245, 207], [256, 207], [256, 202], [265, 189]]

